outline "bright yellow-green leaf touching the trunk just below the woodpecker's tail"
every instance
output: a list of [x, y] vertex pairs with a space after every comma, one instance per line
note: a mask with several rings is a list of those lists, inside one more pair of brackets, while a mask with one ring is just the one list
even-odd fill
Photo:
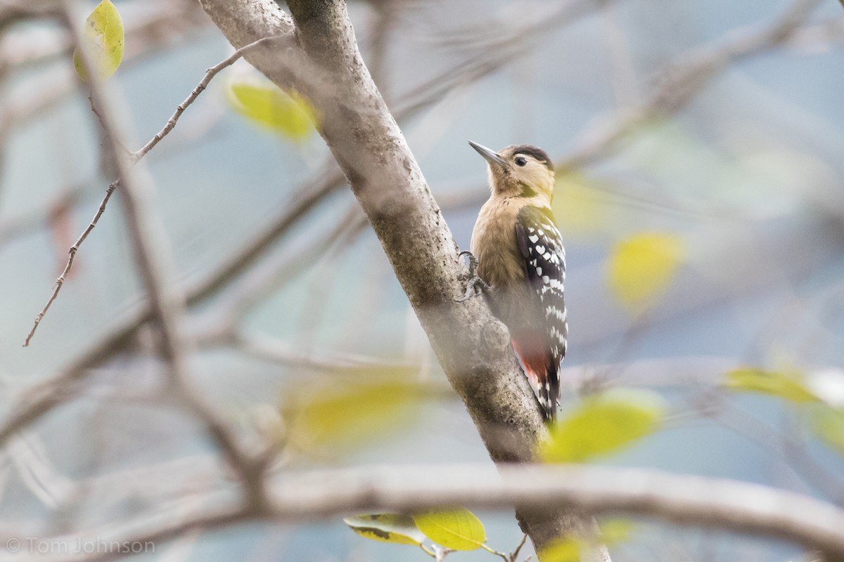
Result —
[[610, 390], [582, 401], [550, 428], [539, 447], [546, 463], [582, 463], [657, 431], [665, 403], [656, 393]]

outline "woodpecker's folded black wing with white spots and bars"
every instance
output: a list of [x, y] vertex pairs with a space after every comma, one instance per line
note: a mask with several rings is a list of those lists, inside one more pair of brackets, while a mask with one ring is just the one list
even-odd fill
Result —
[[[545, 398], [555, 406], [560, 395], [558, 370], [565, 357], [568, 323], [565, 313], [565, 249], [550, 209], [525, 206], [517, 216], [516, 239], [524, 257], [527, 282], [544, 313], [546, 350], [549, 353]], [[540, 389], [543, 390], [543, 389]]]

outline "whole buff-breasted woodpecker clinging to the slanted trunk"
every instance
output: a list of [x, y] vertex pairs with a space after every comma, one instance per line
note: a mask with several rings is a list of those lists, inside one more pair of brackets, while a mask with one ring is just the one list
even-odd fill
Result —
[[472, 231], [470, 264], [476, 257], [480, 280], [470, 281], [466, 297], [477, 283], [488, 289], [490, 308], [510, 331], [544, 418], [554, 420], [569, 331], [565, 249], [551, 212], [554, 164], [530, 145], [495, 153], [469, 144], [488, 163], [491, 195]]

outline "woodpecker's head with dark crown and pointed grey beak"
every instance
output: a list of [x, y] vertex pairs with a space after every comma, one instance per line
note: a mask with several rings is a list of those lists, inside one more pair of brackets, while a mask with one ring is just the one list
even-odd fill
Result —
[[490, 189], [506, 197], [554, 196], [554, 164], [542, 148], [512, 144], [495, 153], [469, 141], [490, 166]]

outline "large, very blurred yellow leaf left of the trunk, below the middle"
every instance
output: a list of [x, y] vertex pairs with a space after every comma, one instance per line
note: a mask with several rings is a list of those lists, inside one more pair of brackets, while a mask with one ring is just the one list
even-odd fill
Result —
[[392, 369], [381, 369], [379, 377], [375, 368], [359, 371], [306, 387], [291, 385], [281, 405], [290, 446], [349, 451], [401, 431], [421, 413], [425, 392], [419, 384]]

